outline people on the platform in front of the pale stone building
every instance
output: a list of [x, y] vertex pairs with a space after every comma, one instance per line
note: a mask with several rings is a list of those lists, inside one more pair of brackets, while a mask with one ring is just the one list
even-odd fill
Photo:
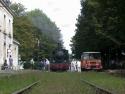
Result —
[[9, 63], [7, 63], [7, 60], [5, 59], [4, 64], [2, 65], [2, 70], [7, 69], [13, 69], [13, 58], [11, 55], [9, 57]]

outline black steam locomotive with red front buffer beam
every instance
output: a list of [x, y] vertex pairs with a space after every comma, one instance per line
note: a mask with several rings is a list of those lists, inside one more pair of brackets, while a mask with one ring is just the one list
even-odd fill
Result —
[[51, 71], [66, 71], [69, 69], [69, 54], [68, 50], [58, 48], [53, 51], [50, 61]]

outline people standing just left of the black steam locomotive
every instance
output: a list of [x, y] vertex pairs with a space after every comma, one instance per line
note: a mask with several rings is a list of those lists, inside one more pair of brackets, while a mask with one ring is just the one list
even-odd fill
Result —
[[45, 58], [40, 61], [42, 70], [50, 71], [50, 61]]

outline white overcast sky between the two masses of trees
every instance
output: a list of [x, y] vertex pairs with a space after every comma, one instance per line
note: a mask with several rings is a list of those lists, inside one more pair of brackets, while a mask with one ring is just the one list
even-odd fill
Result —
[[[80, 13], [80, 0], [11, 0], [20, 2], [27, 10], [41, 9], [61, 29], [64, 46], [70, 51], [76, 18]], [[71, 52], [71, 51], [70, 51]]]

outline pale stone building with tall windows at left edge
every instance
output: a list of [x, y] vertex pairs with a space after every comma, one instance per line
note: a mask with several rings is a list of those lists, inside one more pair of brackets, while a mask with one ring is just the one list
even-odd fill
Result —
[[14, 69], [18, 69], [18, 45], [13, 39], [13, 13], [9, 8], [9, 0], [0, 0], [0, 69], [10, 56], [13, 59]]

